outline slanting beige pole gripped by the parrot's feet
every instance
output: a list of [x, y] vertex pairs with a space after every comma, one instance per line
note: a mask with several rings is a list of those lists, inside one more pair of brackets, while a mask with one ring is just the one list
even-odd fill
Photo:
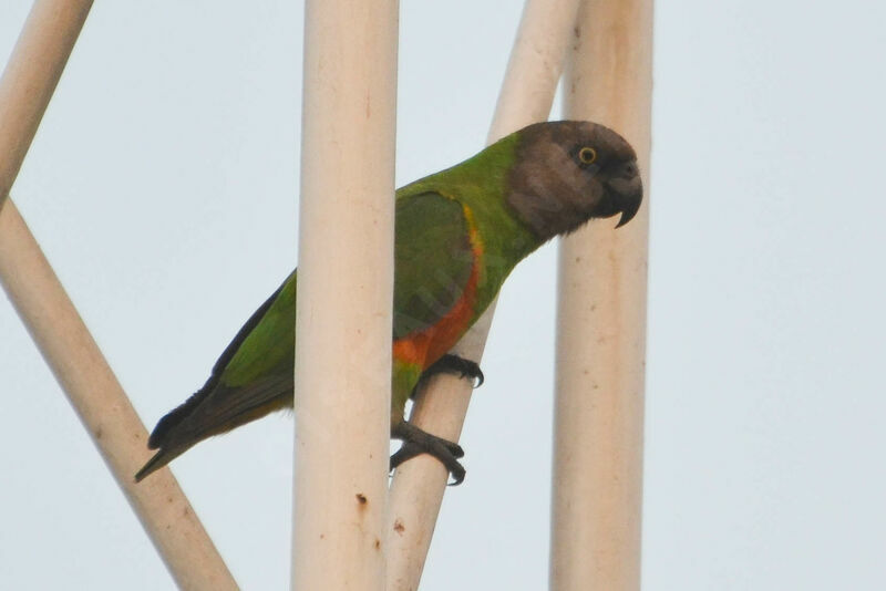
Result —
[[[488, 143], [547, 118], [577, 10], [578, 0], [527, 0]], [[494, 308], [493, 303], [455, 346], [454, 353], [480, 361]], [[437, 375], [420, 393], [410, 422], [457, 442], [470, 401], [467, 381]], [[396, 469], [388, 525], [388, 591], [418, 589], [447, 476], [440, 462], [430, 456], [410, 459]]]

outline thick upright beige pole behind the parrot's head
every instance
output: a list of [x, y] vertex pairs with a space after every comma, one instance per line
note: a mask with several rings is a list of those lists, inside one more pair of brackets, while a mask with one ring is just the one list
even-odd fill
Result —
[[[652, 0], [585, 0], [567, 64], [566, 116], [633, 145], [648, 199]], [[648, 212], [560, 243], [552, 591], [640, 589]]]

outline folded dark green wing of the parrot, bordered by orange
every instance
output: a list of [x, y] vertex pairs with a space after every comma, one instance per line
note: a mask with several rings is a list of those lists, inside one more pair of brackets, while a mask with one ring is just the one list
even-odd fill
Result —
[[474, 265], [462, 205], [439, 193], [398, 199], [394, 340], [436, 324], [459, 303]]

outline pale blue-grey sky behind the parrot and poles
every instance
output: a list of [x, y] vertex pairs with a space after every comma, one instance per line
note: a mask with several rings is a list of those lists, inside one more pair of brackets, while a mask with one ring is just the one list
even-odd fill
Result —
[[[0, 0], [3, 62], [29, 6]], [[519, 12], [402, 2], [399, 185], [483, 145]], [[97, 2], [13, 187], [150, 426], [296, 261], [301, 13]], [[647, 590], [886, 589], [884, 23], [657, 7]], [[423, 591], [546, 588], [555, 262], [502, 292]], [[172, 589], [3, 297], [0, 335], [0, 589]], [[291, 432], [173, 464], [246, 590], [288, 587]]]

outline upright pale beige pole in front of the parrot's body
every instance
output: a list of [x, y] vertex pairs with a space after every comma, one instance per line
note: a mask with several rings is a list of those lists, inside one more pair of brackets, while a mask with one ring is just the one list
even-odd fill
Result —
[[384, 589], [398, 0], [308, 0], [296, 324], [296, 591]]

